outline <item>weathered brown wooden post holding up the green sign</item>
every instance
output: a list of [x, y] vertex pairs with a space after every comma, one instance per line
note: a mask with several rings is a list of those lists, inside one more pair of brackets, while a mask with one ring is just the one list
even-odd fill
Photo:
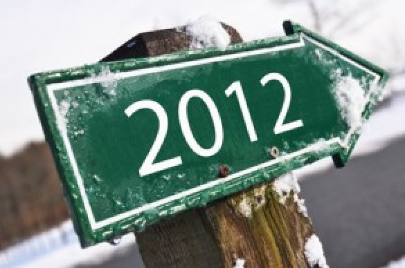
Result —
[[[231, 43], [242, 41], [235, 29], [222, 26]], [[174, 28], [145, 32], [102, 61], [175, 52], [188, 49], [190, 42]], [[309, 267], [304, 250], [312, 224], [295, 193], [281, 195], [274, 183], [261, 184], [147, 227], [136, 234], [145, 266], [233, 267], [241, 258], [245, 267]]]

